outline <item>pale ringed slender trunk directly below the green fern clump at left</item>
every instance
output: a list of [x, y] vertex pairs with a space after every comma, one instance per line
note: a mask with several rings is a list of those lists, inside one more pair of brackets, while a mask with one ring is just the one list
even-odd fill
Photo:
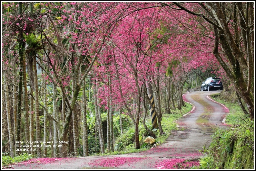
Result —
[[35, 89], [35, 131], [36, 131], [36, 148], [37, 157], [41, 158], [41, 131], [40, 131], [40, 119], [39, 119], [39, 94], [38, 94], [38, 83], [37, 83], [37, 68], [36, 68], [36, 58], [33, 56], [33, 72], [34, 72], [34, 89]]

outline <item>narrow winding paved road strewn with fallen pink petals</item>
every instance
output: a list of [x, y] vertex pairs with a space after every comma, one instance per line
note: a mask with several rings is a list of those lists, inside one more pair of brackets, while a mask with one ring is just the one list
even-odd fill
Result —
[[[190, 92], [183, 99], [195, 107], [178, 120], [178, 131], [172, 131], [165, 143], [156, 148], [125, 155], [81, 158], [41, 159], [14, 165], [15, 169], [159, 169], [172, 168], [173, 163], [202, 157], [199, 149], [208, 147], [212, 133], [222, 123], [228, 109], [212, 101], [209, 94], [220, 91]], [[195, 165], [195, 164], [194, 164]]]

